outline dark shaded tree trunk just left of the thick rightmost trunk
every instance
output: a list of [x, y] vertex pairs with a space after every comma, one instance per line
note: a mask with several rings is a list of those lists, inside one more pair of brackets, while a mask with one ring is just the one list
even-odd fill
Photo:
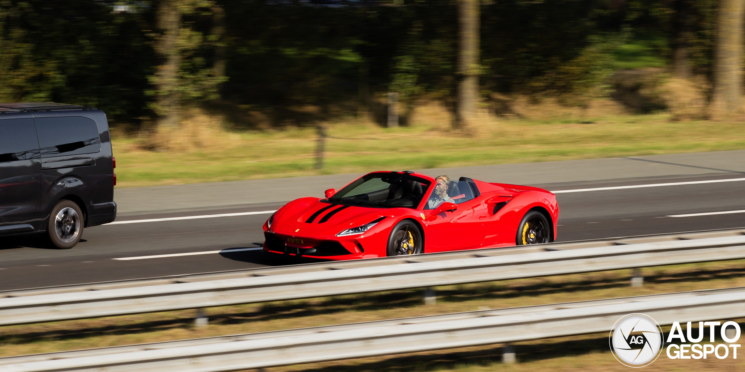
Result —
[[688, 79], [691, 77], [688, 42], [694, 26], [691, 0], [676, 0], [673, 7], [673, 75]]

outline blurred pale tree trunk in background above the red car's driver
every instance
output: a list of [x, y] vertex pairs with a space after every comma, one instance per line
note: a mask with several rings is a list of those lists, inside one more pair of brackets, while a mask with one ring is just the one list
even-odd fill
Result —
[[479, 74], [479, 3], [481, 0], [460, 0], [458, 17], [460, 44], [457, 65], [457, 103], [454, 127], [469, 129], [478, 106]]

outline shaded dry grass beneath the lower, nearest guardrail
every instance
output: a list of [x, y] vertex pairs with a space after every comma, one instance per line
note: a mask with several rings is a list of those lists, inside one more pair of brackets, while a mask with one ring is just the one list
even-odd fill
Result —
[[[742, 324], [742, 322], [741, 322]], [[667, 333], [667, 330], [665, 330]], [[337, 362], [264, 368], [261, 372], [419, 372], [419, 371], [473, 371], [473, 372], [574, 372], [609, 371], [627, 372], [629, 367], [619, 363], [608, 350], [608, 334], [561, 337], [513, 344], [517, 353], [516, 364], [501, 362], [502, 344], [479, 347], [462, 347], [397, 356], [377, 356]], [[647, 368], [653, 371], [742, 371], [745, 360], [738, 359], [668, 359], [662, 355]], [[247, 370], [257, 371], [257, 370]]]

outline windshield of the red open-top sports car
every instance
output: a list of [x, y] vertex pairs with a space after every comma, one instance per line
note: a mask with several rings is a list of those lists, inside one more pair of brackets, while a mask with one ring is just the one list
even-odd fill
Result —
[[370, 173], [360, 177], [329, 200], [387, 208], [416, 208], [430, 182], [402, 173]]

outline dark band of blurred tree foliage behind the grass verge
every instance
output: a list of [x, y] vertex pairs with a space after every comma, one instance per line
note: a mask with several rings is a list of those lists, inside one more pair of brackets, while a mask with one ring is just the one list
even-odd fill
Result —
[[[482, 0], [481, 92], [580, 104], [603, 95], [621, 43], [644, 39], [671, 60], [682, 40], [677, 1], [690, 4], [691, 69], [710, 76], [717, 0]], [[177, 12], [168, 48], [163, 4]], [[302, 124], [355, 112], [361, 101], [374, 106], [366, 97], [386, 92], [399, 92], [405, 106], [426, 96], [453, 108], [457, 4], [0, 0], [0, 101], [98, 106], [131, 123], [209, 101]]]

